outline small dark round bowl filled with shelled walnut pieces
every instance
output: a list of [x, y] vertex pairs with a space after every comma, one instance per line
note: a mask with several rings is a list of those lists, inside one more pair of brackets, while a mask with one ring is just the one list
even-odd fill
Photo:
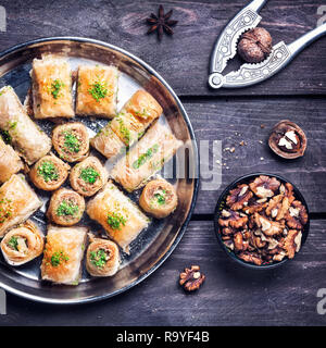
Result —
[[293, 259], [305, 243], [309, 209], [299, 189], [284, 177], [248, 174], [221, 195], [214, 225], [230, 258], [247, 268], [273, 269]]

